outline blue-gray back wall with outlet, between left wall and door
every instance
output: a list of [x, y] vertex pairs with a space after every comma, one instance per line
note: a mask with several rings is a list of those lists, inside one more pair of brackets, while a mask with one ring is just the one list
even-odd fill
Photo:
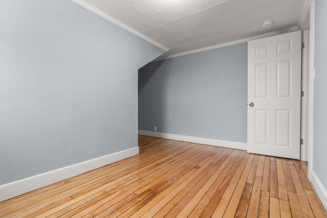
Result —
[[247, 141], [247, 43], [139, 69], [138, 129]]

